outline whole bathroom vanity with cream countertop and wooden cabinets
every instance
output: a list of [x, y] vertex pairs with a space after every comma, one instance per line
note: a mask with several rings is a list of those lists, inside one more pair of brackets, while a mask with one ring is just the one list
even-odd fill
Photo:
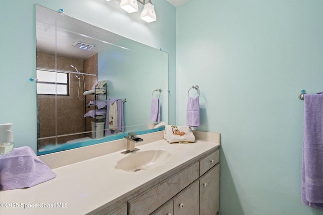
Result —
[[[126, 149], [126, 140], [120, 139], [39, 156], [57, 177], [27, 189], [0, 191], [0, 201], [15, 206], [2, 207], [0, 211], [4, 214], [217, 214], [220, 134], [194, 131], [194, 144], [169, 144], [163, 133], [140, 135], [144, 139], [136, 145], [140, 150], [128, 155], [121, 154]], [[148, 167], [144, 162], [151, 153], [156, 165]]]

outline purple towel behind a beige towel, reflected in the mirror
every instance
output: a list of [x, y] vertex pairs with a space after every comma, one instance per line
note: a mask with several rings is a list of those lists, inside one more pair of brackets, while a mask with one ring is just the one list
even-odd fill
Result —
[[[110, 102], [113, 104], [117, 100], [117, 112], [118, 112], [118, 131], [109, 129], [109, 110], [110, 110]], [[105, 136], [116, 134], [119, 131], [124, 132], [124, 110], [123, 110], [123, 101], [122, 99], [111, 99], [106, 100], [106, 119], [105, 119]]]

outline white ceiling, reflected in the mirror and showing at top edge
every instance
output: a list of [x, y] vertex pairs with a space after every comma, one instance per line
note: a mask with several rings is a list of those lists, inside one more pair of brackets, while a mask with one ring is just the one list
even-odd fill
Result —
[[[174, 7], [178, 7], [187, 3], [189, 0], [167, 1]], [[60, 56], [84, 60], [99, 52], [100, 50], [103, 50], [107, 46], [115, 44], [116, 41], [122, 39], [122, 37], [120, 37], [119, 35], [113, 34], [111, 32], [106, 33], [106, 31], [103, 29], [94, 29], [94, 26], [92, 25], [86, 25], [89, 27], [85, 28], [83, 26], [83, 22], [70, 19], [70, 17], [68, 16], [61, 16], [56, 11], [48, 10], [43, 7], [37, 7], [36, 11], [37, 50], [40, 52], [50, 54], [56, 52]], [[89, 37], [89, 34], [92, 36]], [[94, 45], [94, 47], [89, 51], [80, 51], [80, 49], [72, 46], [78, 41], [81, 41], [85, 44], [92, 44]], [[107, 43], [106, 41], [109, 41], [109, 43]]]

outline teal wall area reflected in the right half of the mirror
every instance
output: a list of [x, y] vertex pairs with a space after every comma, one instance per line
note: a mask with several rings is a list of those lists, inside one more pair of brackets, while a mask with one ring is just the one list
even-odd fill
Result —
[[152, 97], [159, 98], [160, 121], [168, 123], [168, 53], [128, 39], [117, 44], [98, 52], [98, 80], [107, 80], [110, 99], [127, 98], [125, 132], [146, 130], [153, 123]]

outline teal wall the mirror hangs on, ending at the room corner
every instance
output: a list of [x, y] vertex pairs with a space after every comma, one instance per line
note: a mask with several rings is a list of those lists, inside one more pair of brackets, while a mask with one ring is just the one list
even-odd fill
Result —
[[[0, 3], [0, 123], [13, 122], [15, 147], [36, 151], [36, 27], [35, 4], [117, 33], [169, 53], [170, 122], [175, 122], [176, 9], [166, 0], [154, 1], [157, 22], [145, 23], [140, 13], [128, 14], [117, 1], [4, 0]], [[142, 9], [139, 4], [139, 9]], [[165, 92], [167, 89], [165, 89]]]

